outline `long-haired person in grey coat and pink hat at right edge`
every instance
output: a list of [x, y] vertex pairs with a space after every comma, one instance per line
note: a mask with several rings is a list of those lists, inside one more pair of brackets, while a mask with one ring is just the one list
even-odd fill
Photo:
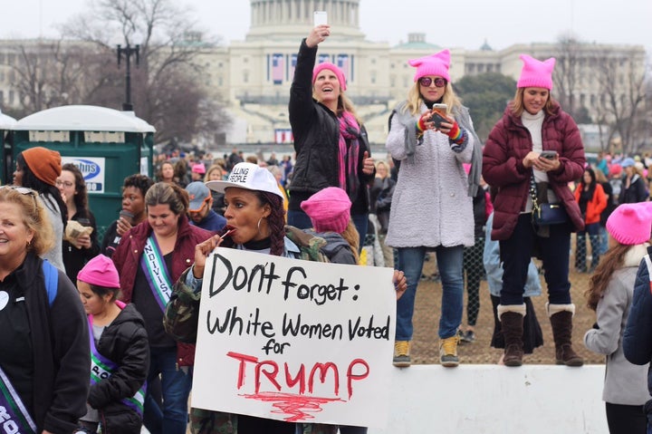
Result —
[[[584, 334], [584, 344], [592, 352], [605, 354], [607, 367], [602, 399], [606, 403], [609, 432], [645, 433], [643, 404], [647, 391], [647, 367], [625, 358], [623, 333], [628, 323], [638, 265], [649, 246], [652, 214], [642, 203], [623, 204], [609, 216], [609, 250], [591, 276], [586, 292], [597, 320]], [[649, 287], [646, 288], [649, 292]], [[647, 360], [649, 362], [649, 359]]]

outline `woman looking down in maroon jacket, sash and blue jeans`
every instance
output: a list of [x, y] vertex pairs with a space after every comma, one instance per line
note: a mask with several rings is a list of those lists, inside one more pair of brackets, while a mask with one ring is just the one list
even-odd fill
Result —
[[163, 408], [146, 395], [145, 427], [150, 432], [185, 434], [195, 347], [172, 340], [163, 330], [163, 312], [172, 283], [192, 265], [195, 246], [211, 236], [187, 219], [187, 193], [176, 185], [154, 184], [145, 195], [147, 220], [129, 229], [112, 256], [120, 273], [121, 300], [136, 305], [149, 337], [148, 382], [160, 375]]

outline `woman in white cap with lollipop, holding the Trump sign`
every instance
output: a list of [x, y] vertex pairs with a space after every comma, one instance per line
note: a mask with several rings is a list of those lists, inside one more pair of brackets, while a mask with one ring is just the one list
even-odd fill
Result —
[[[198, 301], [201, 294], [206, 256], [216, 246], [232, 247], [265, 255], [308, 258], [305, 246], [313, 246], [314, 238], [303, 233], [304, 243], [295, 235], [295, 228], [284, 227], [283, 197], [276, 179], [264, 168], [252, 163], [238, 163], [226, 181], [208, 181], [208, 188], [225, 193], [227, 226], [197, 246], [195, 264], [188, 268], [175, 286], [165, 316], [168, 333], [183, 342], [197, 339]], [[300, 234], [300, 235], [301, 235]], [[305, 237], [309, 239], [305, 242]], [[296, 241], [296, 243], [294, 242]], [[405, 279], [395, 277], [396, 286], [404, 290]], [[294, 433], [293, 423], [253, 416], [192, 409], [192, 430], [196, 434], [233, 432], [237, 434]]]

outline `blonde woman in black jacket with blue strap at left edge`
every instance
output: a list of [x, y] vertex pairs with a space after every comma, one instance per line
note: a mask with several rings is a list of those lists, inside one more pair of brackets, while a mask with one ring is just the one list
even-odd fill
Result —
[[70, 279], [39, 257], [54, 243], [37, 193], [0, 188], [2, 432], [70, 433], [86, 412], [88, 325]]

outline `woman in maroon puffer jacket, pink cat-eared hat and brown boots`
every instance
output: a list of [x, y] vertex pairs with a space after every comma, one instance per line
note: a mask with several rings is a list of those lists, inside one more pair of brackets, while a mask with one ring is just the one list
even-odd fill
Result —
[[[584, 172], [584, 147], [575, 121], [551, 98], [555, 59], [522, 54], [516, 95], [484, 146], [483, 176], [497, 188], [492, 239], [500, 241], [503, 291], [498, 317], [505, 340], [504, 363], [523, 363], [523, 291], [532, 256], [542, 259], [548, 286], [548, 315], [557, 363], [581, 366], [573, 351], [570, 301], [570, 232], [584, 220], [568, 183]], [[536, 202], [536, 203], [535, 203]], [[538, 209], [557, 217], [534, 223]], [[564, 213], [565, 211], [565, 213]], [[545, 217], [545, 216], [544, 216]]]

